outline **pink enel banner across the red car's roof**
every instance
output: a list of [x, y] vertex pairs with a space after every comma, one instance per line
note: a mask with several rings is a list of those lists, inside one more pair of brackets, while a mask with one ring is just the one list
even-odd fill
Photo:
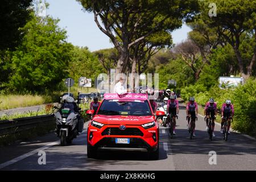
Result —
[[117, 93], [105, 93], [104, 94], [104, 99], [105, 100], [113, 100], [113, 99], [118, 99], [118, 100], [141, 100], [141, 101], [146, 101], [147, 100], [147, 94], [143, 93], [126, 93], [122, 95], [118, 95]]

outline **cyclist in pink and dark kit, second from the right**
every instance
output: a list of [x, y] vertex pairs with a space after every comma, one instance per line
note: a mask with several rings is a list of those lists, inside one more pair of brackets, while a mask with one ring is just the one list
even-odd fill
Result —
[[[209, 123], [209, 117], [212, 117], [212, 118], [216, 118], [216, 115], [217, 115], [217, 104], [216, 102], [214, 102], [214, 99], [213, 98], [210, 98], [209, 99], [209, 102], [207, 102], [207, 104], [205, 104], [205, 107], [204, 107], [204, 119], [206, 119], [206, 123], [207, 123], [207, 128], [205, 130], [208, 130], [209, 127], [208, 127], [208, 123]], [[212, 121], [212, 136], [215, 137], [214, 135], [214, 121]]]

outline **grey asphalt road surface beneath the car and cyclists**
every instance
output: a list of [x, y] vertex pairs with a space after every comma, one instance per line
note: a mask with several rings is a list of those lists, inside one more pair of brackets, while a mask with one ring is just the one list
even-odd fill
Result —
[[[174, 139], [160, 126], [159, 160], [148, 160], [143, 152], [99, 152], [98, 159], [86, 155], [86, 123], [84, 133], [70, 146], [62, 147], [53, 133], [28, 142], [0, 148], [0, 170], [255, 170], [256, 142], [231, 133], [225, 142], [216, 125], [213, 141], [205, 131], [205, 122], [196, 122], [196, 137], [189, 139], [185, 110], [181, 108]], [[46, 146], [48, 144], [48, 146]], [[39, 151], [46, 152], [46, 164], [39, 165]], [[209, 164], [210, 151], [216, 152], [216, 164]], [[211, 158], [212, 159], [212, 158]], [[214, 160], [210, 160], [214, 162]]]

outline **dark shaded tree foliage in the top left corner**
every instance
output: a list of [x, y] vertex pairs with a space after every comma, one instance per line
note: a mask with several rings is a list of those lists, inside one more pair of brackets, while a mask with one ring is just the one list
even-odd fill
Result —
[[32, 0], [2, 0], [0, 6], [0, 51], [14, 49], [23, 37], [22, 27], [31, 18]]

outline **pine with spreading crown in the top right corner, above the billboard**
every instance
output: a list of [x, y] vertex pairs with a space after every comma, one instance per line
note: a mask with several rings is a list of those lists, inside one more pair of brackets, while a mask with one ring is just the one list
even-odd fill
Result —
[[[240, 73], [247, 78], [252, 75], [256, 59], [256, 1], [232, 0], [215, 1], [217, 5], [217, 16], [209, 17], [207, 5], [211, 1], [202, 2], [201, 18], [209, 27], [216, 28], [223, 40], [226, 40], [236, 54]], [[249, 34], [254, 39], [254, 51], [250, 61], [245, 61], [241, 56], [242, 36]]]

